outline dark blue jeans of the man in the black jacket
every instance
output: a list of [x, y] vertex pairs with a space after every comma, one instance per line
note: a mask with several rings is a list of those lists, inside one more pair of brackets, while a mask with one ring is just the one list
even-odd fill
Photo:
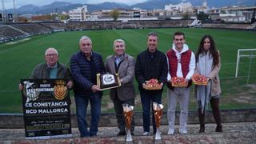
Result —
[[150, 108], [152, 110], [152, 124], [154, 134], [156, 133], [156, 126], [154, 122], [153, 102], [161, 103], [162, 90], [139, 90], [141, 94], [141, 102], [143, 109], [143, 130], [150, 132]]

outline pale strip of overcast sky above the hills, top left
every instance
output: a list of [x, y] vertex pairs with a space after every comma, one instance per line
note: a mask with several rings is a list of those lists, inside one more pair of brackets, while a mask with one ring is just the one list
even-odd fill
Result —
[[[2, 10], [2, 1], [4, 2], [5, 9], [11, 9], [14, 7], [13, 0], [0, 0]], [[96, 4], [102, 2], [119, 2], [119, 3], [126, 3], [127, 5], [132, 5], [134, 3], [146, 2], [147, 0], [15, 0], [16, 8], [28, 4], [33, 4], [35, 6], [43, 6], [50, 4], [52, 2], [70, 2], [70, 3], [89, 3], [89, 4]]]

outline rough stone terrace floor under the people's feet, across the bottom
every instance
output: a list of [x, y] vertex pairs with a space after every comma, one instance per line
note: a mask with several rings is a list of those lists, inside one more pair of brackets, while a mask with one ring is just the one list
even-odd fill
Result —
[[[142, 136], [142, 126], [136, 126], [134, 130], [133, 142], [126, 142], [125, 136], [117, 137], [118, 128], [115, 127], [99, 127], [98, 136], [90, 138], [79, 138], [78, 128], [72, 128], [72, 137], [70, 138], [52, 138], [44, 140], [27, 140], [25, 138], [24, 129], [1, 129], [0, 130], [0, 143], [27, 143], [27, 144], [56, 144], [56, 143], [117, 143], [117, 144], [213, 144], [213, 143], [255, 143], [256, 142], [256, 122], [232, 122], [222, 124], [222, 133], [215, 132], [216, 124], [207, 124], [206, 131], [203, 134], [198, 134], [199, 125], [188, 125], [188, 134], [179, 134], [178, 126], [175, 126], [174, 135], [167, 135], [168, 126], [161, 126], [162, 140], [155, 141], [154, 135], [151, 133], [149, 136]], [[151, 126], [152, 127], [152, 126]], [[152, 129], [151, 129], [152, 130]], [[152, 132], [152, 131], [151, 131]]]

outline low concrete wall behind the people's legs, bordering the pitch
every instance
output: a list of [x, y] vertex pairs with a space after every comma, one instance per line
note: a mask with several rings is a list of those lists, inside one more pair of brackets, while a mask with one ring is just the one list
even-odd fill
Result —
[[[221, 110], [222, 122], [256, 122], [256, 108]], [[142, 112], [135, 112], [135, 125], [142, 126]], [[90, 115], [87, 115], [90, 123]], [[179, 122], [179, 112], [176, 112], [176, 124]], [[206, 123], [214, 123], [214, 118], [210, 110], [206, 110]], [[190, 111], [188, 124], [198, 123], [198, 112]], [[71, 125], [77, 127], [76, 115], [71, 114]], [[161, 125], [168, 125], [166, 111], [162, 115]], [[117, 126], [114, 113], [103, 113], [99, 122], [100, 127]], [[24, 128], [23, 114], [0, 114], [0, 129], [18, 129]]]

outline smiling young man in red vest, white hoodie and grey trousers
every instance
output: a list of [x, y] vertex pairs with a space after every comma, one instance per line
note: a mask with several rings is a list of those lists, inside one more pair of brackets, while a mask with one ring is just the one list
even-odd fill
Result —
[[[166, 57], [168, 62], [167, 82], [169, 83], [167, 90], [168, 97], [168, 134], [174, 134], [175, 110], [177, 99], [180, 105], [180, 119], [179, 119], [179, 133], [187, 134], [186, 121], [188, 116], [188, 107], [190, 99], [191, 78], [194, 74], [195, 58], [194, 53], [189, 50], [185, 44], [185, 34], [182, 32], [174, 33], [173, 46], [171, 50], [167, 51]], [[186, 78], [188, 86], [186, 87], [172, 87], [170, 85], [171, 78], [182, 77]]]

